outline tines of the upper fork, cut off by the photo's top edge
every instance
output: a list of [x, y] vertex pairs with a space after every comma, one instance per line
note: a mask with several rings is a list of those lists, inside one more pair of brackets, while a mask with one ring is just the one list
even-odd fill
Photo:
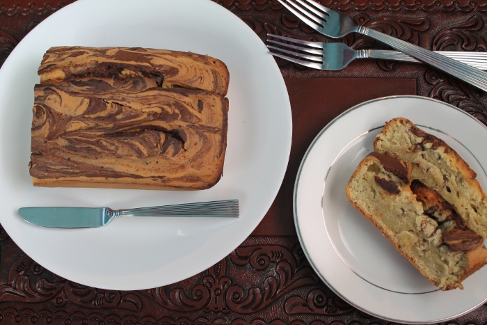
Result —
[[329, 16], [330, 10], [321, 4], [312, 0], [295, 0], [294, 1], [278, 0], [282, 6], [294, 13], [299, 19], [303, 20], [308, 26], [314, 29], [320, 29], [324, 26]]

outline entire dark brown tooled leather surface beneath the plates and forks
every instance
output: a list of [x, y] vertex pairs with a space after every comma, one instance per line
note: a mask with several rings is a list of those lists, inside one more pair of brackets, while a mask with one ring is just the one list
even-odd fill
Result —
[[[0, 63], [42, 19], [71, 2], [1, 2]], [[216, 2], [262, 40], [266, 33], [277, 33], [328, 41], [276, 0]], [[427, 49], [487, 50], [487, 0], [321, 3], [351, 15], [360, 25]], [[134, 6], [140, 5], [134, 0]], [[385, 48], [363, 35], [347, 35], [340, 41], [355, 49]], [[281, 60], [278, 64], [292, 104], [291, 157], [276, 201], [252, 236], [201, 274], [166, 287], [122, 292], [85, 287], [52, 274], [20, 251], [1, 228], [0, 324], [387, 324], [337, 298], [306, 261], [292, 221], [292, 191], [301, 158], [326, 123], [365, 100], [422, 95], [458, 106], [485, 124], [487, 95], [425, 65], [369, 60], [324, 72]], [[449, 323], [486, 324], [487, 306]]]

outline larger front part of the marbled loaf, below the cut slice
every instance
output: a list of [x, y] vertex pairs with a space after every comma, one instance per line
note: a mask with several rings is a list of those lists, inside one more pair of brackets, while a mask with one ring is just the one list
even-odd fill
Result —
[[130, 177], [208, 185], [221, 176], [227, 99], [155, 88], [93, 95], [73, 84], [35, 86], [31, 176]]

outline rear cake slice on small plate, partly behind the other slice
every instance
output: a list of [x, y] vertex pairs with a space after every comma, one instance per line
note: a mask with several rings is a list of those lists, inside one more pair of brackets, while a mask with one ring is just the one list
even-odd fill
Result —
[[487, 197], [477, 174], [436, 136], [406, 118], [386, 123], [374, 141], [376, 152], [390, 152], [413, 166], [413, 179], [438, 191], [451, 203], [469, 228], [487, 238]]

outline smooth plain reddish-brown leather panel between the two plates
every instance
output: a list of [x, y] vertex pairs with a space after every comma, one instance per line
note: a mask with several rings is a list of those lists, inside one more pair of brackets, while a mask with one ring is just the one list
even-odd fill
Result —
[[321, 129], [356, 104], [391, 95], [415, 95], [415, 79], [289, 78], [293, 135], [289, 165], [271, 209], [252, 235], [296, 235], [292, 212], [294, 180], [308, 146]]

